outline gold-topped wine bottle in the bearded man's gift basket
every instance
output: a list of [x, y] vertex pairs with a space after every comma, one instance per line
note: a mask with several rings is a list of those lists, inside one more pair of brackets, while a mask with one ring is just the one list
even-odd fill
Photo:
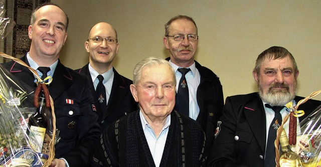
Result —
[[303, 166], [301, 163], [300, 157], [291, 150], [284, 128], [282, 129], [279, 141], [282, 149], [282, 153], [279, 161], [280, 166], [281, 167]]

